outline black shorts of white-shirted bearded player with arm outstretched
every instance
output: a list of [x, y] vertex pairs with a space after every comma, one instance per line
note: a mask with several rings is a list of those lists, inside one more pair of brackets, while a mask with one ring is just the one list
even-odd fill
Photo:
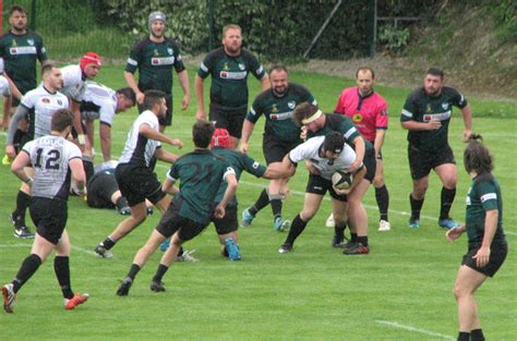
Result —
[[115, 176], [130, 207], [144, 203], [145, 199], [156, 204], [166, 196], [161, 191], [161, 183], [148, 167], [120, 163], [115, 170]]

